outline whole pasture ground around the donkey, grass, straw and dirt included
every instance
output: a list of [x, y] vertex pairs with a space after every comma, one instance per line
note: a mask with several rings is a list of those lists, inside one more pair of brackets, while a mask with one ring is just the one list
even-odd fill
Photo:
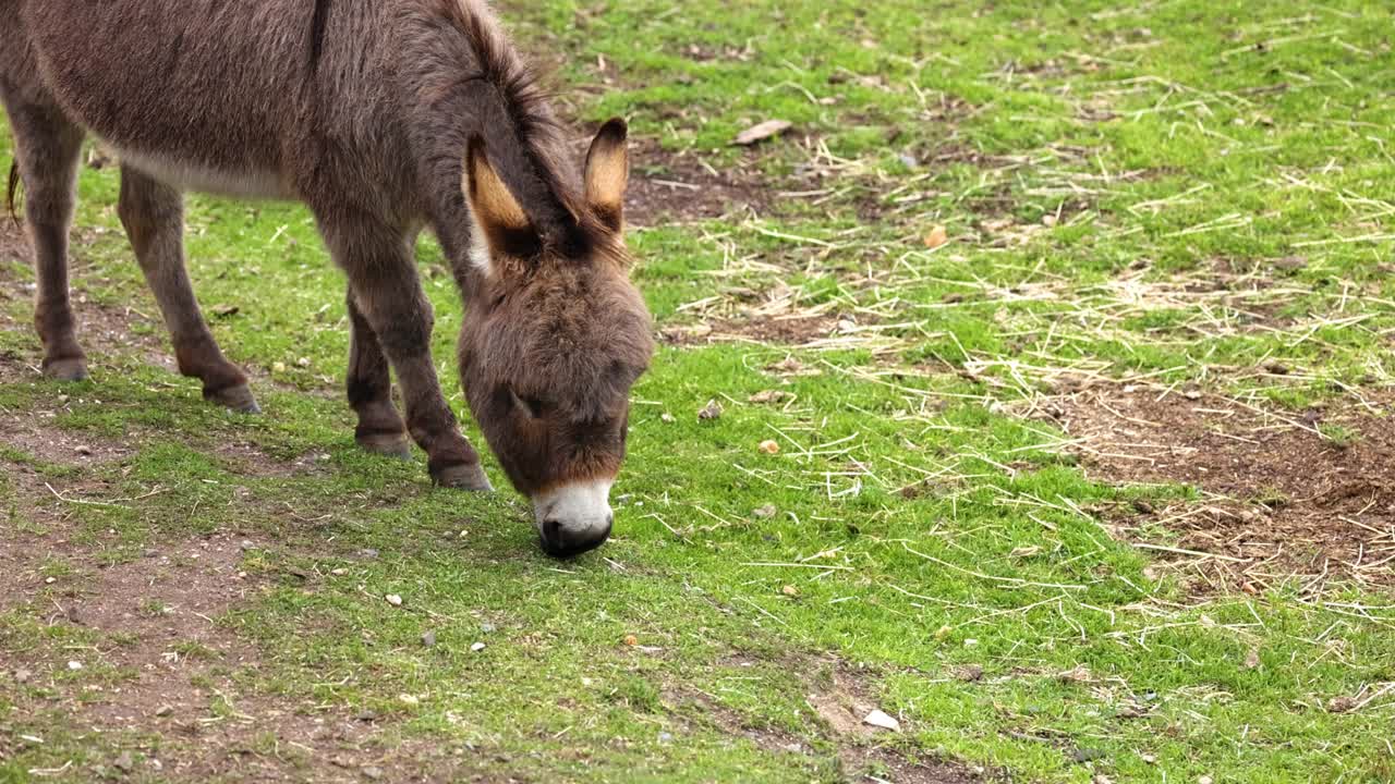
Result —
[[93, 151], [92, 381], [0, 234], [0, 781], [1395, 780], [1389, 4], [501, 13], [635, 137], [615, 537], [354, 446], [300, 206], [188, 199], [206, 406]]

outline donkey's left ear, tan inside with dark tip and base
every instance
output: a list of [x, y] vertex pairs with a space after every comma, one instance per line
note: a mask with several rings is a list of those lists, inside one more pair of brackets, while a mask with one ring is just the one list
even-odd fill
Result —
[[518, 199], [490, 166], [484, 140], [474, 137], [465, 155], [460, 187], [470, 204], [470, 261], [490, 272], [497, 255], [529, 255], [538, 244], [537, 232]]

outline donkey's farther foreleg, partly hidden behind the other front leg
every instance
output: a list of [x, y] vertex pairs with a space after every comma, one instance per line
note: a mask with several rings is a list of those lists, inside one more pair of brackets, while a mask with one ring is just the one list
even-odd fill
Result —
[[372, 331], [349, 292], [349, 405], [359, 414], [354, 441], [370, 452], [391, 458], [410, 458], [407, 425], [392, 405], [392, 377], [388, 357], [382, 356], [378, 333]]

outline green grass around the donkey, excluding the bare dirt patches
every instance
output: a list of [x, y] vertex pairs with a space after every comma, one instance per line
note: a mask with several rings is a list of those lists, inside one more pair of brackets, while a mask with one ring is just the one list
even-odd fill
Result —
[[[1391, 621], [1352, 611], [1388, 596], [1289, 583], [1189, 597], [1101, 515], [1186, 491], [1091, 483], [1057, 431], [1011, 416], [1080, 372], [1295, 407], [1388, 384], [1388, 7], [547, 0], [508, 18], [530, 49], [565, 53], [557, 78], [578, 116], [625, 114], [663, 149], [776, 191], [837, 191], [774, 199], [760, 220], [636, 229], [635, 278], [661, 328], [739, 319], [760, 301], [742, 289], [780, 286], [794, 311], [893, 328], [795, 352], [817, 375], [769, 370], [790, 353], [780, 346], [663, 347], [635, 389], [615, 540], [558, 564], [511, 491], [435, 490], [423, 465], [353, 446], [343, 280], [306, 211], [193, 197], [193, 278], [205, 310], [239, 308], [213, 331], [257, 372], [266, 414], [212, 410], [197, 382], [133, 349], [93, 352], [88, 384], [3, 385], [6, 412], [68, 395], [53, 427], [135, 452], [81, 476], [10, 446], [0, 460], [70, 497], [144, 498], [71, 505], [0, 483], [0, 525], [42, 530], [61, 513], [103, 562], [218, 530], [254, 536], [265, 548], [240, 565], [252, 590], [218, 618], [261, 651], [232, 670], [243, 693], [371, 709], [498, 778], [844, 780], [805, 700], [829, 657], [865, 665], [872, 699], [905, 723], [879, 742], [1014, 781], [1395, 776], [1388, 702], [1328, 710], [1395, 681]], [[794, 137], [727, 146], [767, 117], [795, 123]], [[833, 159], [810, 159], [802, 137]], [[810, 163], [838, 169], [812, 177]], [[165, 340], [116, 190], [110, 170], [82, 176], [75, 280]], [[937, 225], [950, 243], [929, 248]], [[430, 241], [421, 258], [435, 356], [467, 420], [448, 361], [458, 297]], [[706, 311], [684, 307], [707, 297]], [[0, 350], [32, 361], [28, 304], [0, 307], [17, 324]], [[1265, 363], [1288, 372], [1257, 372]], [[767, 389], [792, 402], [746, 402]], [[710, 399], [725, 413], [700, 421]], [[229, 439], [280, 470], [219, 452]], [[766, 439], [778, 455], [757, 449]], [[774, 515], [756, 513], [766, 506]], [[81, 569], [49, 561], [43, 573]], [[93, 738], [53, 710], [123, 674], [100, 661], [116, 643], [45, 625], [49, 614], [36, 593], [0, 615], [7, 665], [53, 670], [42, 685], [0, 679], [0, 734], [47, 741], [0, 741], [0, 781], [149, 744]], [[63, 668], [73, 644], [98, 651], [82, 671]], [[971, 664], [981, 679], [956, 677]], [[230, 710], [220, 700], [209, 692], [211, 716]]]

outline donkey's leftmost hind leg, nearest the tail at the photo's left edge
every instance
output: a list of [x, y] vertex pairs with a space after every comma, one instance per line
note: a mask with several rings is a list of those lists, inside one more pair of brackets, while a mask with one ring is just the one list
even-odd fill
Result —
[[38, 292], [33, 326], [43, 342], [43, 374], [59, 381], [86, 378], [86, 357], [73, 333], [68, 304], [68, 227], [82, 130], [56, 107], [7, 96], [24, 181], [24, 213], [33, 246]]

